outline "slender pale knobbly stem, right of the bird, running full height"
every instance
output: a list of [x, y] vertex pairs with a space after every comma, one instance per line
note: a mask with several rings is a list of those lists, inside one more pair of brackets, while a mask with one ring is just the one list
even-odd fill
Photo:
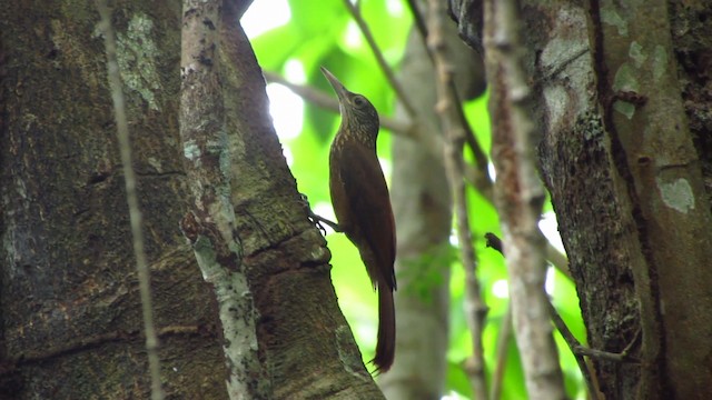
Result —
[[473, 248], [472, 231], [469, 229], [469, 216], [467, 213], [467, 197], [464, 180], [464, 130], [456, 103], [452, 101], [448, 93], [453, 80], [453, 68], [446, 58], [446, 42], [443, 38], [443, 19], [445, 10], [442, 1], [429, 1], [428, 18], [428, 48], [433, 53], [435, 70], [437, 73], [436, 84], [438, 94], [437, 111], [443, 124], [445, 137], [445, 170], [453, 192], [455, 203], [455, 216], [457, 221], [457, 238], [459, 242], [461, 257], [465, 269], [466, 280], [466, 319], [469, 326], [473, 344], [473, 357], [468, 370], [473, 393], [477, 399], [487, 398], [487, 380], [485, 377], [484, 349], [482, 334], [487, 307], [482, 298], [482, 290], [477, 281], [477, 261]]

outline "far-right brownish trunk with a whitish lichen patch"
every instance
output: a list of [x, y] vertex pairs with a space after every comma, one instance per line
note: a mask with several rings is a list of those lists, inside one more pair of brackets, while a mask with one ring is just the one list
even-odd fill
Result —
[[683, 111], [668, 3], [646, 2], [643, 14], [630, 4], [592, 6], [601, 112], [645, 262], [633, 273], [636, 282], [650, 279], [652, 294], [649, 303], [639, 298], [643, 363], [655, 360], [651, 370], [663, 379], [644, 374], [640, 389], [705, 396], [710, 370], [698, 368], [712, 354], [712, 316], [702, 311], [712, 310], [712, 217]]

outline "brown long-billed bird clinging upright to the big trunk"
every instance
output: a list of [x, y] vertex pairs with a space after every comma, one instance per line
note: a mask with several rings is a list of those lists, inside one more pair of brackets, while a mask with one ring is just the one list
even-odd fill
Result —
[[336, 92], [342, 121], [329, 151], [329, 191], [337, 230], [358, 249], [378, 292], [378, 341], [370, 361], [376, 373], [395, 359], [397, 289], [394, 262], [396, 233], [388, 187], [378, 157], [378, 112], [363, 94], [350, 92], [326, 68], [322, 72]]

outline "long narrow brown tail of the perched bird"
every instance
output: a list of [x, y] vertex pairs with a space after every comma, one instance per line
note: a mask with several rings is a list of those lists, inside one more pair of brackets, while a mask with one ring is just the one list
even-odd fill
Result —
[[396, 352], [396, 310], [393, 303], [393, 290], [378, 288], [378, 343], [376, 357], [370, 361], [376, 373], [390, 369]]

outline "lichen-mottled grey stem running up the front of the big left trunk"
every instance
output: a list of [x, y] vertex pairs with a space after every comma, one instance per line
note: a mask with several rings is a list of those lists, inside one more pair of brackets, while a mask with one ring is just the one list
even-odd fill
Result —
[[217, 57], [239, 26], [235, 2], [184, 1], [180, 39], [180, 138], [194, 201], [181, 221], [202, 277], [215, 292], [230, 399], [267, 399], [273, 386], [259, 359], [253, 292], [229, 202], [230, 152]]

